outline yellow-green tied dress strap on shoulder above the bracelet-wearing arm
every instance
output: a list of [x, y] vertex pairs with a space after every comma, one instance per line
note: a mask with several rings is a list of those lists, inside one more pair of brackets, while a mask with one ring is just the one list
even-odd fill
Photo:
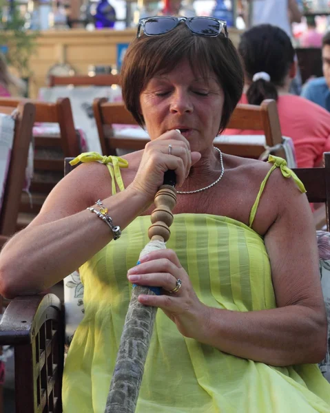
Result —
[[73, 166], [79, 162], [101, 162], [107, 165], [112, 178], [112, 195], [116, 193], [116, 182], [121, 191], [125, 189], [123, 178], [121, 178], [121, 168], [128, 168], [127, 160], [119, 158], [119, 156], [102, 156], [98, 152], [84, 152], [72, 159], [70, 165]]

